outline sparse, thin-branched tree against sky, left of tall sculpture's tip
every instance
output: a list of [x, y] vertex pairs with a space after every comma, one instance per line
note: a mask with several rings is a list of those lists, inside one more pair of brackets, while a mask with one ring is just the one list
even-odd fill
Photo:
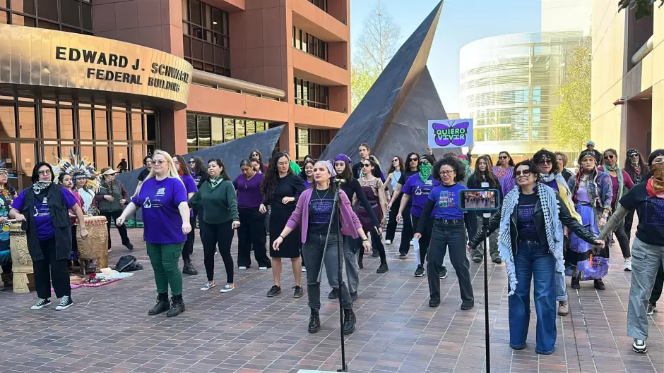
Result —
[[379, 0], [362, 25], [362, 34], [355, 47], [350, 69], [351, 108], [355, 110], [364, 94], [396, 51], [401, 39], [401, 28]]

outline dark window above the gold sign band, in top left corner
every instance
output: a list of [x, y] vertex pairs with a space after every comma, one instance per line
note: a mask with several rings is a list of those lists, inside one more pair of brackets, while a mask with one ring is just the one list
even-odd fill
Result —
[[93, 35], [90, 0], [0, 0], [0, 23]]

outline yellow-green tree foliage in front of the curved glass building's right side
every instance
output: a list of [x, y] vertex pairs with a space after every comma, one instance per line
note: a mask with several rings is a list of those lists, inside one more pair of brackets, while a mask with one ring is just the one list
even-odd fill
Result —
[[552, 132], [559, 145], [583, 149], [591, 136], [590, 37], [574, 47], [566, 63], [566, 80], [555, 92], [562, 98], [551, 113]]

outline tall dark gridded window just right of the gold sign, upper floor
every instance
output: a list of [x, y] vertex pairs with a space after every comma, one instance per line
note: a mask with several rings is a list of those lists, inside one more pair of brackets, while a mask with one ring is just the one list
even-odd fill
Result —
[[184, 59], [197, 70], [230, 76], [228, 13], [199, 0], [182, 0]]

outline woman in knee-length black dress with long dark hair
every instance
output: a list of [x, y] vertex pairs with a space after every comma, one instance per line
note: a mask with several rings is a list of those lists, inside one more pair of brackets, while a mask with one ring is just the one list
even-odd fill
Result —
[[280, 250], [273, 249], [274, 241], [279, 238], [286, 226], [290, 214], [295, 211], [297, 196], [304, 192], [304, 183], [300, 176], [290, 169], [290, 161], [282, 152], [270, 159], [265, 178], [261, 184], [261, 191], [265, 200], [259, 207], [261, 214], [266, 214], [270, 205], [270, 257], [272, 257], [272, 275], [274, 286], [268, 291], [268, 297], [281, 293], [281, 258], [290, 258], [295, 277], [293, 296], [301, 298], [302, 291], [302, 259], [300, 258], [300, 228], [297, 234], [291, 234], [280, 243]]

